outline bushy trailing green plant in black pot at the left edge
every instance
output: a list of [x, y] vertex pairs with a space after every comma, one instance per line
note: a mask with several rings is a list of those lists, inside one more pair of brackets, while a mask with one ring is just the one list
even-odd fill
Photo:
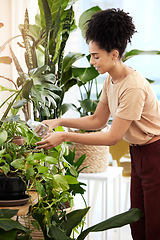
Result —
[[[3, 120], [0, 135], [0, 200], [27, 200], [29, 178], [26, 173], [29, 165], [26, 157], [31, 146], [40, 138], [24, 122], [15, 120], [15, 116]], [[15, 135], [22, 138], [15, 141]]]

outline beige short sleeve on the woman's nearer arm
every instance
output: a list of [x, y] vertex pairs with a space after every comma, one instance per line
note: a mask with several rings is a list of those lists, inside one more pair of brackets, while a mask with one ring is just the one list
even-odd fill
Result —
[[127, 120], [140, 120], [146, 92], [141, 88], [126, 89], [119, 97], [116, 116]]

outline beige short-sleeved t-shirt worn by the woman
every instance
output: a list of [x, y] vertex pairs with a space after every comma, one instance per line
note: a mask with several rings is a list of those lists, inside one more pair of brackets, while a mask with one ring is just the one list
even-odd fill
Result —
[[132, 123], [124, 135], [131, 144], [144, 144], [160, 135], [160, 104], [148, 81], [137, 71], [113, 84], [109, 75], [103, 85], [100, 101], [109, 105], [112, 117]]

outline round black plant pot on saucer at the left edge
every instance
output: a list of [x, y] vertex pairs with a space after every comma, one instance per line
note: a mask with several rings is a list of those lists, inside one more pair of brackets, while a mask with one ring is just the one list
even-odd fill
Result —
[[18, 200], [26, 194], [26, 185], [20, 177], [0, 176], [0, 200]]

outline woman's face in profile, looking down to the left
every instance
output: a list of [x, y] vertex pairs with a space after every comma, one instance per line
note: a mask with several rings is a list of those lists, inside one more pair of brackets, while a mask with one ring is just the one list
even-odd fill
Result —
[[90, 64], [100, 74], [110, 73], [115, 65], [113, 51], [108, 53], [106, 50], [100, 49], [97, 42], [91, 41], [89, 43], [89, 52], [91, 54]]

